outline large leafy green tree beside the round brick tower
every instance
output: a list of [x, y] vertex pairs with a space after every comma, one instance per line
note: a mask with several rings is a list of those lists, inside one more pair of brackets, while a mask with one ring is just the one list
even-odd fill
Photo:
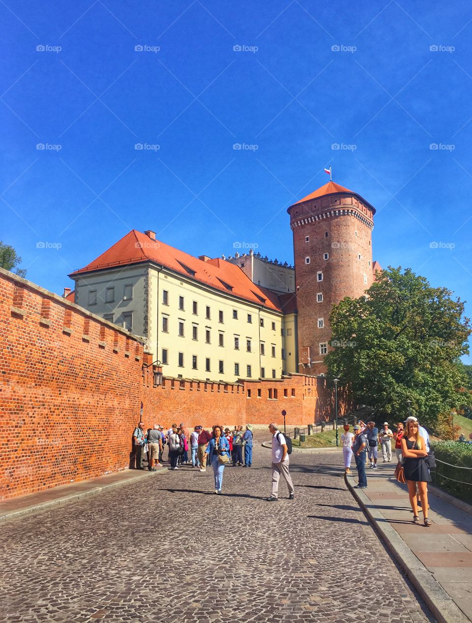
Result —
[[438, 414], [460, 407], [467, 378], [470, 320], [446, 288], [433, 288], [411, 269], [382, 271], [360, 298], [333, 306], [328, 374], [375, 412], [403, 416], [406, 401], [434, 426]]

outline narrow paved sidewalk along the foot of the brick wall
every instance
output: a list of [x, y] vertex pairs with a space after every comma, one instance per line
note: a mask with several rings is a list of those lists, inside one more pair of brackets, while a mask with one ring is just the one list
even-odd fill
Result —
[[108, 473], [98, 478], [89, 478], [70, 485], [51, 487], [38, 493], [19, 495], [15, 498], [0, 500], [0, 522], [14, 519], [28, 513], [37, 513], [48, 510], [54, 506], [76, 502], [88, 495], [96, 495], [106, 489], [126, 485], [131, 482], [151, 477], [159, 472], [167, 472], [167, 467], [160, 468], [156, 472], [145, 470], [127, 469], [123, 472]]

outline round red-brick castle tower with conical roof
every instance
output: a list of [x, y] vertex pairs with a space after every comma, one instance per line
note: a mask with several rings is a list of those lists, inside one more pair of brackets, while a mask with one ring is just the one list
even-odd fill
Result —
[[329, 315], [334, 303], [357, 298], [372, 285], [372, 229], [375, 208], [334, 183], [287, 210], [293, 231], [298, 308], [298, 371], [326, 372], [331, 350]]

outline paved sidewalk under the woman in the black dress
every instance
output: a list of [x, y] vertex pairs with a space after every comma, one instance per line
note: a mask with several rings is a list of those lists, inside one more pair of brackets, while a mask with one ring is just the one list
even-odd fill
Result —
[[[423, 525], [421, 512], [421, 525], [414, 525], [407, 485], [395, 480], [395, 466], [394, 460], [367, 467], [367, 488], [353, 493], [413, 583], [431, 592], [440, 612], [423, 596], [438, 619], [472, 621], [472, 516], [430, 492], [433, 525]], [[355, 466], [346, 480], [349, 488], [357, 483]]]

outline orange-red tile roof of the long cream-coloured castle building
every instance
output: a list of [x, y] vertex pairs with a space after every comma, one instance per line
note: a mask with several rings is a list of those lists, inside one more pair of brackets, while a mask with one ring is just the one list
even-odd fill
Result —
[[267, 288], [253, 283], [240, 267], [219, 258], [203, 262], [193, 255], [174, 249], [174, 247], [160, 240], [153, 240], [136, 229], [132, 229], [110, 249], [99, 255], [97, 259], [87, 264], [83, 269], [75, 270], [69, 277], [73, 278], [95, 270], [149, 261], [222, 292], [245, 298], [252, 303], [263, 305], [278, 312], [281, 311], [279, 297]]

